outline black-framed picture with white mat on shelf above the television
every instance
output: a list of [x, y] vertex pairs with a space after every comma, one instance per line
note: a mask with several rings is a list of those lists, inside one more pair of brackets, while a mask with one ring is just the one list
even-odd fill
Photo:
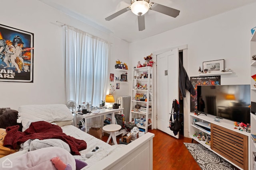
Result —
[[224, 59], [203, 62], [203, 71], [206, 72], [222, 72], [224, 71]]

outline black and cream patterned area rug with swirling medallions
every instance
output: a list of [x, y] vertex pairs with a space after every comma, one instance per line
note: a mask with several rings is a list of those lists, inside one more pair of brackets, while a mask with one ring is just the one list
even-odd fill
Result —
[[202, 170], [239, 170], [200, 143], [184, 143]]

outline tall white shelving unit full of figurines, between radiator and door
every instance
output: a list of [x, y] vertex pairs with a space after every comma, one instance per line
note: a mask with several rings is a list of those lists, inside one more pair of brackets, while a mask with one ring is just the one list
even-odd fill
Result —
[[[148, 132], [149, 126], [151, 126], [151, 128], [153, 129], [154, 109], [153, 96], [151, 96], [151, 94], [153, 94], [153, 68], [149, 66], [134, 68], [132, 73], [130, 121], [134, 121], [135, 119], [137, 120], [137, 118], [144, 117], [146, 121], [143, 123], [143, 125], [138, 123], [137, 127], [145, 129], [145, 133]], [[146, 101], [141, 101], [140, 98]], [[140, 111], [136, 109], [136, 105], [143, 106], [145, 111]], [[149, 123], [149, 119], [151, 120], [151, 123]]]

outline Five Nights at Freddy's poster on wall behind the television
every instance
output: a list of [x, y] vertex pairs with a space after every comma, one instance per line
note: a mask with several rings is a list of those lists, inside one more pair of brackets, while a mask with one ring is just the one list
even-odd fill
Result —
[[197, 86], [209, 86], [209, 85], [220, 85], [220, 76], [199, 76], [190, 77], [196, 95], [190, 96], [190, 111], [194, 112], [197, 110]]

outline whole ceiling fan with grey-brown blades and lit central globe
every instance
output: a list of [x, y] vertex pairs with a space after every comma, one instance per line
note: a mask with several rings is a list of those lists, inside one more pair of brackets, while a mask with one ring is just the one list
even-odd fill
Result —
[[110, 20], [116, 18], [117, 16], [120, 16], [124, 12], [132, 10], [132, 13], [134, 13], [135, 15], [138, 16], [139, 31], [142, 31], [145, 29], [144, 14], [146, 14], [146, 12], [148, 12], [148, 10], [160, 12], [162, 14], [166, 14], [166, 15], [174, 17], [174, 18], [176, 18], [180, 14], [179, 10], [176, 10], [174, 8], [170, 8], [168, 6], [164, 6], [161, 4], [157, 4], [154, 2], [149, 3], [149, 0], [131, 0], [131, 4], [132, 4], [131, 6], [128, 6], [124, 9], [112, 14], [111, 16], [108, 16], [107, 18], [105, 18], [105, 20], [110, 21]]

